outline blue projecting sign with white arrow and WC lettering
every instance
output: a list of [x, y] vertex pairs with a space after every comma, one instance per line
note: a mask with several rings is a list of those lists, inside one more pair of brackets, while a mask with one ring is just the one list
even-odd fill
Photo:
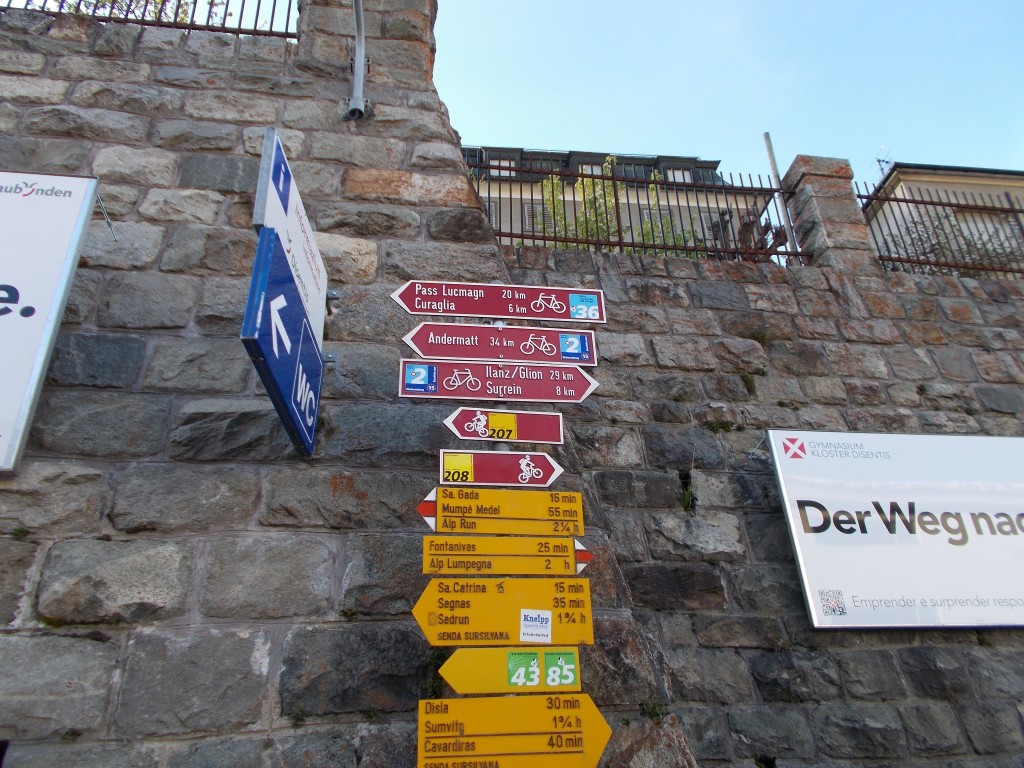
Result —
[[312, 456], [324, 355], [302, 306], [281, 238], [269, 226], [259, 232], [242, 321], [242, 343], [295, 447]]

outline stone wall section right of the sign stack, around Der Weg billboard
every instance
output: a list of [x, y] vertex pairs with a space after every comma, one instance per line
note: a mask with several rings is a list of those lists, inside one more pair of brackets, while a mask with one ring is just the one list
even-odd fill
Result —
[[[1020, 436], [1019, 284], [522, 249], [600, 285], [570, 462], [702, 766], [1014, 766], [1024, 635], [815, 631], [767, 428]], [[869, 567], [869, 563], [865, 563]]]

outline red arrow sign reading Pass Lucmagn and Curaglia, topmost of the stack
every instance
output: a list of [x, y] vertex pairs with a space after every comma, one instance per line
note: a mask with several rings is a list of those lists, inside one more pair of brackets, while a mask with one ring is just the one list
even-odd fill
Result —
[[410, 314], [606, 323], [604, 292], [585, 288], [501, 286], [411, 280], [391, 298]]

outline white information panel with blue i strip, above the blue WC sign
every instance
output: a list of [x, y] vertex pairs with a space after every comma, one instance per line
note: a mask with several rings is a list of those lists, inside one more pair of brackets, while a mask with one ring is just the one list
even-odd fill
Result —
[[281, 238], [292, 270], [292, 279], [302, 299], [316, 346], [324, 348], [324, 318], [327, 315], [327, 269], [302, 207], [299, 188], [285, 157], [278, 131], [267, 128], [263, 157], [256, 183], [253, 225], [272, 227]]

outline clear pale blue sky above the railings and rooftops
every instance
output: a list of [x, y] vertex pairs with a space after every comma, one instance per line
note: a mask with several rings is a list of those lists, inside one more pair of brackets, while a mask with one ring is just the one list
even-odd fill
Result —
[[1024, 0], [438, 0], [464, 144], [1024, 170]]

